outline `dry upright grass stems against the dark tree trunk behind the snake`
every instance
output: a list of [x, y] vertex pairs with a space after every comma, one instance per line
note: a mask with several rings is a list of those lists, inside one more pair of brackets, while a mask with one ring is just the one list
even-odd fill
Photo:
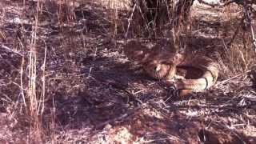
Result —
[[126, 37], [147, 37], [153, 40], [168, 37], [176, 50], [182, 51], [190, 31], [190, 8], [194, 1], [132, 1]]

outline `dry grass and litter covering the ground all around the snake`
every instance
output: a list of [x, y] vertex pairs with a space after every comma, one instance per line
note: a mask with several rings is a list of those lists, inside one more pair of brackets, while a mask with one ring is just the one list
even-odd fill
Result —
[[146, 15], [131, 18], [128, 0], [0, 5], [0, 142], [256, 141], [255, 90], [246, 78], [255, 63], [250, 32], [239, 30], [228, 45], [238, 7], [212, 9], [217, 22], [207, 8], [194, 8], [189, 26], [176, 33], [190, 34], [186, 48], [222, 65], [218, 86], [177, 101], [122, 55], [126, 36], [169, 38], [166, 16], [159, 25], [138, 23]]

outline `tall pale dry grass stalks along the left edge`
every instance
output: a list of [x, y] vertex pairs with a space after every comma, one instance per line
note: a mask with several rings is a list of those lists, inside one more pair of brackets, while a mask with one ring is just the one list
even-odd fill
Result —
[[[1, 9], [1, 26], [6, 30], [2, 32], [1, 28], [2, 48], [4, 48], [4, 51], [1, 51], [1, 58], [6, 51], [10, 52], [10, 57], [4, 60], [7, 65], [2, 65], [1, 74], [6, 75], [2, 77], [5, 80], [13, 78], [6, 81], [6, 86], [1, 87], [0, 90], [6, 97], [5, 101], [1, 101], [5, 105], [3, 110], [6, 109], [16, 120], [13, 124], [14, 128], [19, 127], [23, 133], [30, 135], [27, 138], [28, 142], [42, 143], [48, 136], [45, 134], [47, 130], [45, 128], [54, 127], [55, 121], [54, 116], [48, 120], [45, 118], [46, 62], [49, 58], [46, 46], [48, 41], [46, 38], [49, 35], [45, 30], [50, 25], [58, 24], [58, 27], [63, 27], [74, 22], [76, 20], [74, 8], [77, 5], [68, 1], [23, 1], [0, 4], [4, 5]], [[14, 20], [10, 18], [11, 15], [14, 16]], [[19, 90], [15, 89], [17, 86]], [[51, 137], [54, 138], [54, 135]]]

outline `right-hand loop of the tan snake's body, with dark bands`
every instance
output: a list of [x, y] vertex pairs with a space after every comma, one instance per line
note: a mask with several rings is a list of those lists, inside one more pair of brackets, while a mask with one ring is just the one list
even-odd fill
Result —
[[[206, 56], [196, 56], [190, 61], [185, 60], [178, 64], [176, 68], [186, 70], [185, 78], [170, 82], [174, 84], [174, 88], [178, 90], [181, 96], [190, 94], [192, 91], [206, 90], [217, 82], [218, 63]], [[152, 71], [152, 73], [158, 72]]]

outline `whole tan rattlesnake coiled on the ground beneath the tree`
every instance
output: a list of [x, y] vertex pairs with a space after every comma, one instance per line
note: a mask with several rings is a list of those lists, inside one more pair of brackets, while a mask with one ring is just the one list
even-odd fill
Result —
[[[175, 92], [178, 90], [181, 96], [192, 91], [206, 90], [218, 78], [218, 63], [206, 56], [186, 57], [159, 46], [148, 49], [138, 41], [128, 42], [124, 52], [131, 60], [140, 62], [150, 77], [172, 84]], [[177, 75], [177, 69], [186, 70], [185, 78]], [[179, 79], [174, 81], [174, 78]]]

